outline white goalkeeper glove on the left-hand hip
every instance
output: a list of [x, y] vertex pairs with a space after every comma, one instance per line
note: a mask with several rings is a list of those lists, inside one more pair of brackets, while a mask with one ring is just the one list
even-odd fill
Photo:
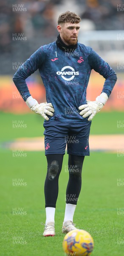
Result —
[[51, 103], [43, 102], [38, 104], [36, 99], [33, 99], [32, 96], [29, 96], [25, 103], [35, 113], [41, 115], [45, 120], [49, 120], [48, 116], [54, 116], [54, 108]]

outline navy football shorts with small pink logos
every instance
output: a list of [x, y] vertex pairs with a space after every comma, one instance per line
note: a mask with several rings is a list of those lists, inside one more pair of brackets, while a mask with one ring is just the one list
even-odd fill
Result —
[[89, 156], [89, 134], [91, 121], [70, 123], [58, 121], [44, 122], [45, 155], [65, 154]]

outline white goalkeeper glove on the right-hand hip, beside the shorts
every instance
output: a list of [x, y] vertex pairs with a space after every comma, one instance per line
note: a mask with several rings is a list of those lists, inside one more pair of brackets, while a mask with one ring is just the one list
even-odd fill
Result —
[[104, 104], [107, 102], [108, 96], [106, 93], [101, 93], [100, 96], [96, 98], [96, 101], [87, 100], [87, 104], [79, 106], [79, 110], [82, 110], [79, 114], [84, 118], [89, 116], [87, 119], [91, 121], [93, 117], [101, 111], [104, 107]]

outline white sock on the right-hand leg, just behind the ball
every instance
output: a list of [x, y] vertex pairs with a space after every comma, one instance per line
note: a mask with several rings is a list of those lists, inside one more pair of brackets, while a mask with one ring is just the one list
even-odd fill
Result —
[[76, 204], [66, 204], [64, 221], [72, 221], [75, 212]]

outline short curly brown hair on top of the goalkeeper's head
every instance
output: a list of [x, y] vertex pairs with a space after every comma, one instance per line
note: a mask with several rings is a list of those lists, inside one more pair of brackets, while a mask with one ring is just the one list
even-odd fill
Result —
[[80, 21], [81, 18], [79, 15], [76, 15], [74, 12], [67, 11], [59, 15], [58, 25], [60, 23], [79, 23]]

